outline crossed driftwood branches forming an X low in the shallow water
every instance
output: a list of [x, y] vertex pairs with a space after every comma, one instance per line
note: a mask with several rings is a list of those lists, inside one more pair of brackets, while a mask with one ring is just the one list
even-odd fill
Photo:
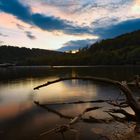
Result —
[[86, 123], [109, 123], [109, 122], [112, 122], [112, 120], [104, 120], [104, 119], [96, 119], [94, 117], [91, 117], [89, 116], [89, 118], [83, 118], [84, 114], [86, 114], [87, 112], [90, 112], [90, 111], [94, 111], [94, 110], [97, 110], [97, 109], [100, 109], [101, 107], [89, 107], [89, 108], [86, 108], [81, 114], [79, 114], [78, 116], [76, 117], [73, 117], [73, 116], [68, 116], [68, 115], [64, 115], [62, 114], [61, 112], [59, 111], [56, 111], [46, 105], [43, 105], [43, 104], [40, 104], [39, 102], [37, 101], [34, 101], [34, 103], [49, 111], [49, 112], [52, 112], [54, 114], [56, 114], [57, 116], [61, 117], [61, 118], [65, 118], [65, 119], [69, 119], [70, 121], [67, 123], [67, 124], [62, 124], [56, 128], [53, 128], [51, 130], [48, 130], [48, 131], [45, 131], [43, 133], [40, 134], [40, 136], [44, 136], [44, 135], [47, 135], [49, 133], [61, 133], [62, 136], [64, 137], [64, 132], [66, 131], [71, 131], [71, 132], [75, 132], [77, 133], [78, 131], [76, 129], [74, 129], [72, 126], [76, 123], [78, 123], [80, 120], [83, 121], [83, 122], [86, 122]]

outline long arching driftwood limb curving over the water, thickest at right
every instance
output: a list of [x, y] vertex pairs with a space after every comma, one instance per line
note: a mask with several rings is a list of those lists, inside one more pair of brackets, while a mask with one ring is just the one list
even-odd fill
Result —
[[135, 98], [133, 97], [133, 92], [128, 87], [127, 82], [125, 82], [125, 81], [119, 82], [119, 81], [111, 80], [111, 79], [108, 79], [108, 78], [100, 78], [100, 77], [67, 77], [67, 78], [60, 78], [60, 79], [57, 79], [57, 80], [54, 80], [54, 81], [47, 82], [43, 85], [35, 87], [34, 90], [45, 87], [45, 86], [48, 86], [48, 85], [51, 85], [51, 84], [54, 84], [54, 83], [57, 83], [57, 82], [61, 82], [61, 81], [65, 81], [65, 80], [72, 80], [72, 79], [91, 80], [91, 81], [95, 81], [95, 82], [103, 82], [103, 83], [112, 84], [112, 85], [120, 88], [126, 96], [128, 105], [135, 112], [137, 120], [140, 120], [140, 105], [135, 100]]

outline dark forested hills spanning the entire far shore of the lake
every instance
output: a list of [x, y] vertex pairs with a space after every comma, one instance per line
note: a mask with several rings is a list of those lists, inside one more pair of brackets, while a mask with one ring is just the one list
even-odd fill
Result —
[[140, 30], [106, 39], [76, 54], [0, 46], [0, 63], [17, 65], [140, 65]]

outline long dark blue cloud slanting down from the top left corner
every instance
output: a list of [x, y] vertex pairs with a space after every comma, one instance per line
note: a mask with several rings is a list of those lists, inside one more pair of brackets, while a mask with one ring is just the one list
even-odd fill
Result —
[[0, 0], [0, 10], [14, 15], [28, 24], [36, 25], [43, 30], [60, 30], [67, 34], [92, 34], [88, 27], [75, 26], [67, 20], [62, 20], [58, 17], [39, 13], [34, 14], [28, 6], [23, 5], [18, 0]]

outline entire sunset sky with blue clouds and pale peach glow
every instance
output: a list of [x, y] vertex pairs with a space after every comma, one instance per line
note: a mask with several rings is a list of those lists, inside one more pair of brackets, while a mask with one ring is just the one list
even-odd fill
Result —
[[58, 49], [140, 29], [140, 0], [0, 0], [0, 44]]

